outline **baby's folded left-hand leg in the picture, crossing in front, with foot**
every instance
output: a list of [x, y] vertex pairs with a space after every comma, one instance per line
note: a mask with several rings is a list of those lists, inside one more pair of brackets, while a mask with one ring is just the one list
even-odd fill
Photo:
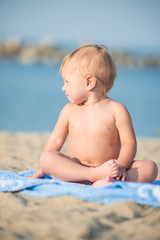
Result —
[[91, 168], [58, 151], [46, 151], [40, 158], [39, 169], [33, 178], [49, 174], [64, 181], [94, 182], [106, 176], [116, 176], [118, 168], [115, 160], [105, 162], [99, 167]]

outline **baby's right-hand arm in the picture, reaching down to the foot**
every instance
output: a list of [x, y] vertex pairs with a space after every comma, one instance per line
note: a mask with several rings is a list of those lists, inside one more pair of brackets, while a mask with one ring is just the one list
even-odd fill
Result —
[[121, 142], [121, 150], [117, 159], [119, 165], [117, 180], [126, 180], [126, 170], [134, 160], [137, 151], [136, 137], [130, 114], [122, 104], [117, 104], [115, 120]]

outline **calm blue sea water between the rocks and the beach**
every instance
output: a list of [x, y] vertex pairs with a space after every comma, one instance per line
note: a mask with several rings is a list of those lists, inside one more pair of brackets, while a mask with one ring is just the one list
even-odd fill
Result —
[[[59, 67], [0, 62], [0, 130], [52, 131], [68, 102]], [[160, 136], [160, 70], [118, 69], [108, 95], [127, 107], [136, 136]]]

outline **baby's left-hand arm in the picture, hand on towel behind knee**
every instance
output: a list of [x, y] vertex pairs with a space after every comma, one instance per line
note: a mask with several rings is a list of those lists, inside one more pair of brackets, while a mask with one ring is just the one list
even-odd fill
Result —
[[[56, 126], [51, 133], [49, 139], [47, 140], [44, 151], [60, 151], [65, 139], [68, 135], [68, 116], [70, 104], [67, 104], [61, 111]], [[43, 178], [45, 177], [45, 173], [39, 166], [37, 171], [33, 174], [32, 178]]]

